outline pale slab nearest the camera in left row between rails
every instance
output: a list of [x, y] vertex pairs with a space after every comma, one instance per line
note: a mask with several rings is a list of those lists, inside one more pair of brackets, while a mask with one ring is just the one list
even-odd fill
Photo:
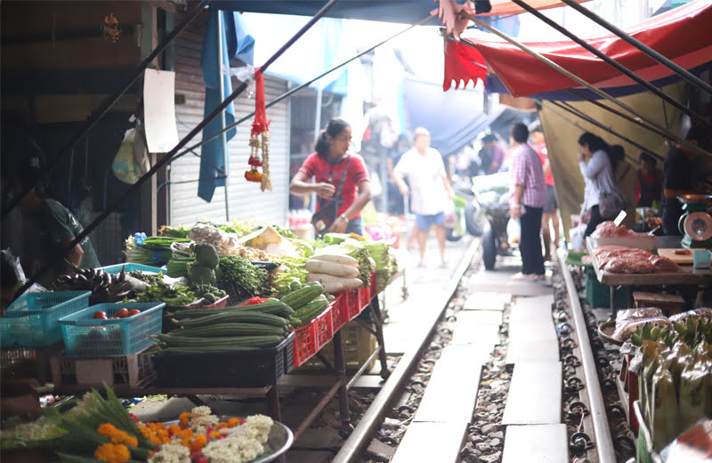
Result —
[[456, 463], [466, 429], [467, 425], [462, 423], [411, 423], [391, 463]]

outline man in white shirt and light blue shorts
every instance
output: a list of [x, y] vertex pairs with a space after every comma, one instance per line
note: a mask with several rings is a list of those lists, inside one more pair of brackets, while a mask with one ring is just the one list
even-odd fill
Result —
[[[417, 243], [420, 248], [420, 266], [425, 266], [425, 241], [431, 227], [440, 246], [442, 265], [445, 266], [445, 227], [443, 220], [452, 191], [445, 165], [438, 150], [430, 148], [430, 133], [423, 127], [414, 131], [415, 146], [403, 153], [393, 169], [393, 181], [403, 196], [410, 194], [410, 209], [416, 214]], [[408, 185], [403, 181], [408, 176]]]

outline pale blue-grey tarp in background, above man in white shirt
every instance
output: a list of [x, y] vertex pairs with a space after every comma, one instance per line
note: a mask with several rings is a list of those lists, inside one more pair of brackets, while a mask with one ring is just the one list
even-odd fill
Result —
[[443, 155], [463, 149], [505, 110], [500, 108], [485, 114], [481, 92], [457, 90], [443, 93], [440, 85], [415, 79], [405, 79], [403, 92], [410, 131], [416, 127], [428, 129], [431, 146]]

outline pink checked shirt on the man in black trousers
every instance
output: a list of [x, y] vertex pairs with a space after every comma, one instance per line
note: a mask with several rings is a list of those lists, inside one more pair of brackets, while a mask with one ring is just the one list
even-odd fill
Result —
[[523, 186], [522, 204], [529, 207], [544, 207], [546, 205], [546, 183], [544, 182], [544, 169], [537, 151], [528, 143], [520, 143], [514, 148], [509, 168], [512, 179], [512, 196], [510, 202], [514, 204], [514, 186]]

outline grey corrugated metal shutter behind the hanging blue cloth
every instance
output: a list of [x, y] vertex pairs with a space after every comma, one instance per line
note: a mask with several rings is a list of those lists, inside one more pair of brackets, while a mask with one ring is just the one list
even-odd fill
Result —
[[[205, 27], [200, 21], [199, 28]], [[184, 104], [176, 104], [175, 116], [178, 122], [178, 135], [185, 136], [197, 126], [203, 118], [205, 102], [205, 84], [200, 69], [200, 54], [203, 49], [203, 30], [188, 28], [176, 38], [174, 47], [175, 93], [185, 95]], [[271, 102], [287, 92], [287, 81], [265, 76], [265, 97]], [[233, 88], [239, 84], [233, 79]], [[244, 94], [244, 93], [243, 93]], [[234, 102], [235, 118], [243, 118], [255, 110], [255, 100], [240, 95]], [[247, 169], [249, 157], [249, 131], [251, 121], [237, 127], [238, 134], [229, 142], [231, 219], [256, 220], [259, 223], [287, 223], [287, 147], [288, 147], [287, 102], [280, 102], [267, 110], [271, 120], [270, 166], [272, 191], [260, 191], [259, 183], [247, 183], [243, 174]], [[200, 140], [200, 134], [188, 146]], [[196, 150], [200, 154], [199, 149]], [[200, 170], [200, 158], [188, 153], [171, 165], [171, 206], [170, 223], [190, 225], [198, 220], [225, 220], [225, 196], [223, 187], [217, 188], [212, 202], [198, 198], [198, 183], [178, 183], [197, 180]]]

